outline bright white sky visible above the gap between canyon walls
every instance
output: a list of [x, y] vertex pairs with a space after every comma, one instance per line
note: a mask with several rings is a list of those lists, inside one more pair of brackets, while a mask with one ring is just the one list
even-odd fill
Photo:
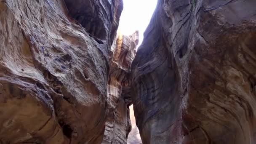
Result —
[[119, 24], [121, 32], [124, 35], [131, 35], [139, 30], [140, 45], [156, 5], [157, 0], [123, 0], [123, 12]]

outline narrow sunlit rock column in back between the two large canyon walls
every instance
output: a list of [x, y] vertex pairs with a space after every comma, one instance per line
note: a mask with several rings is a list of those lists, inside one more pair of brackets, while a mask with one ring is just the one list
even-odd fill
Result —
[[129, 115], [131, 96], [125, 90], [129, 85], [127, 76], [135, 57], [135, 48], [138, 42], [138, 32], [125, 36], [119, 31], [112, 45], [107, 85], [109, 115], [104, 133], [104, 144], [126, 144], [128, 133], [131, 131]]

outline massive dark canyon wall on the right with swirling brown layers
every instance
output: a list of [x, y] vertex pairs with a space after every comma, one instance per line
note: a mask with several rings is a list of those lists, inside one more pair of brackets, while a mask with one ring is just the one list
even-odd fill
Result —
[[255, 10], [255, 0], [158, 0], [131, 74], [144, 144], [256, 143]]

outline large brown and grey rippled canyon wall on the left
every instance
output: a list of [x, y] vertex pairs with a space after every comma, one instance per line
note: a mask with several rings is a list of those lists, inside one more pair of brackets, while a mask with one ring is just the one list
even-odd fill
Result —
[[122, 0], [0, 0], [0, 143], [101, 143], [122, 9]]

